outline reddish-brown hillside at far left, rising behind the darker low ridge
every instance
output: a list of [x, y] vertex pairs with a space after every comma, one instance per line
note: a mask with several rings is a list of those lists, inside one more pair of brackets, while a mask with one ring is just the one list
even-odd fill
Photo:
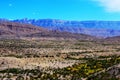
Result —
[[46, 31], [46, 29], [35, 27], [30, 24], [0, 21], [0, 38], [17, 38], [42, 31]]

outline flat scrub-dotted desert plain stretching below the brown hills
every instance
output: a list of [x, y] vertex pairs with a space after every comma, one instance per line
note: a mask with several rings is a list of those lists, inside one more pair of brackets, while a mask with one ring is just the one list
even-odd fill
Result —
[[[117, 41], [111, 43], [108, 40], [4, 39], [0, 40], [0, 55], [0, 79], [8, 78], [9, 74], [13, 80], [21, 75], [24, 77], [27, 75], [30, 80], [30, 74], [34, 74], [37, 70], [39, 71], [36, 75], [38, 78], [34, 80], [49, 80], [49, 77], [52, 78], [50, 80], [78, 80], [86, 79], [119, 64], [120, 44]], [[119, 69], [118, 66], [118, 71], [112, 78], [120, 79]], [[21, 70], [24, 73], [21, 73]], [[27, 74], [29, 71], [30, 74]], [[38, 76], [39, 73], [41, 77]], [[45, 78], [43, 79], [42, 76]], [[110, 75], [107, 77], [111, 79]], [[105, 79], [103, 77], [103, 80]], [[20, 80], [25, 80], [25, 78]], [[90, 80], [96, 79], [90, 78]]]

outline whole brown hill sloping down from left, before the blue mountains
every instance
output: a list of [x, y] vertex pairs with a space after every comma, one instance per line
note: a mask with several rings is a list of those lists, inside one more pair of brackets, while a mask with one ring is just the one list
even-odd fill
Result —
[[81, 40], [95, 39], [89, 35], [47, 30], [41, 27], [33, 26], [31, 24], [21, 24], [6, 20], [0, 20], [0, 38], [72, 38]]

